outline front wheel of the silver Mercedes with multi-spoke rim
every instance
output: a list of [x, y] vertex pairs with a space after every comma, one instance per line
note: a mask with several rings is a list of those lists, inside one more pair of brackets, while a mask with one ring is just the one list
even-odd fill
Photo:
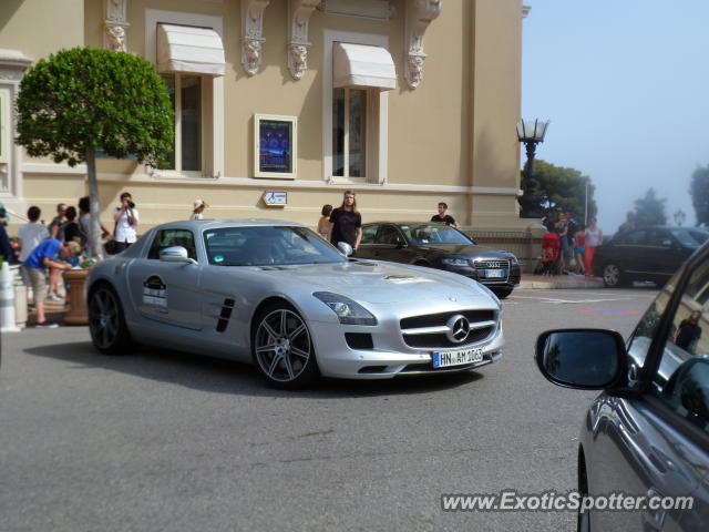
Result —
[[319, 371], [310, 332], [292, 306], [269, 305], [254, 324], [254, 361], [269, 385], [294, 390], [315, 381]]

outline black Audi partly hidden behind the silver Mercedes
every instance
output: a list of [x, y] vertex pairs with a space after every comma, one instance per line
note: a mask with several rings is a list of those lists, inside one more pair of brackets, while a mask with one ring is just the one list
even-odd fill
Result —
[[514, 254], [479, 246], [444, 224], [364, 224], [357, 256], [453, 272], [482, 283], [501, 299], [520, 284], [520, 263]]

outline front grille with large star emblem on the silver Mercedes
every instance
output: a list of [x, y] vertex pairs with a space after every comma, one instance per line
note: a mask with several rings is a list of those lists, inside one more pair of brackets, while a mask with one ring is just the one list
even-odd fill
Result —
[[[462, 341], [453, 341], [448, 337], [448, 321], [452, 316], [462, 315], [467, 318], [471, 329]], [[471, 344], [489, 338], [494, 331], [497, 321], [495, 310], [459, 310], [452, 313], [429, 314], [425, 316], [412, 316], [403, 318], [399, 325], [404, 344], [417, 348], [462, 348]], [[414, 329], [430, 328], [421, 331]], [[438, 330], [435, 330], [438, 329]], [[444, 329], [444, 330], [440, 330]]]

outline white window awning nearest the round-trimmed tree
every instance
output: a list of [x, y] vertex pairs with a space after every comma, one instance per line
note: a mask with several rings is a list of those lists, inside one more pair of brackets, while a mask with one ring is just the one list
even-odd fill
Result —
[[157, 24], [157, 71], [224, 75], [224, 47], [208, 28]]

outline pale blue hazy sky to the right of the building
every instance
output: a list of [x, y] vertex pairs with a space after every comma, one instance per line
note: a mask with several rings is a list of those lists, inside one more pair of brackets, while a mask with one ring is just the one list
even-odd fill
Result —
[[668, 223], [681, 209], [693, 225], [689, 182], [709, 163], [709, 0], [524, 3], [522, 116], [552, 121], [536, 156], [590, 176], [606, 235], [650, 186]]

